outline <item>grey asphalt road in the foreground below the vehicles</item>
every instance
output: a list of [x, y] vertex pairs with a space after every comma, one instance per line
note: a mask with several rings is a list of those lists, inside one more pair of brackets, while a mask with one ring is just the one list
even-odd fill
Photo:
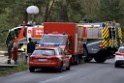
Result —
[[124, 83], [124, 68], [115, 68], [114, 60], [105, 63], [84, 63], [74, 65], [70, 71], [28, 70], [7, 77], [0, 77], [0, 83]]

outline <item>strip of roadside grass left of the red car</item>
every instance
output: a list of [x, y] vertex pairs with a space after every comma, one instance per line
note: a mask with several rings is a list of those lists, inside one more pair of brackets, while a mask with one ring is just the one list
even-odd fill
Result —
[[13, 67], [13, 68], [0, 68], [0, 77], [1, 76], [7, 76], [11, 75], [17, 72], [25, 71], [28, 69], [27, 64], [20, 63], [18, 66]]

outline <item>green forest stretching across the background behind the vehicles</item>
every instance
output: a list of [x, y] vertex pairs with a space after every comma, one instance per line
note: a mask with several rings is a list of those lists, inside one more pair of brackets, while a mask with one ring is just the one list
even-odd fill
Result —
[[31, 20], [27, 7], [35, 5], [37, 23], [46, 21], [79, 23], [84, 18], [92, 22], [116, 20], [124, 28], [123, 0], [0, 0], [0, 30], [17, 27]]

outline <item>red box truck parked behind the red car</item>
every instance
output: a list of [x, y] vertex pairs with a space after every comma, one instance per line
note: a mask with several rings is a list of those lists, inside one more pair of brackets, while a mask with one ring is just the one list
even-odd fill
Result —
[[80, 63], [84, 59], [82, 27], [73, 22], [45, 22], [42, 45], [58, 45], [64, 53], [72, 55], [71, 63]]

